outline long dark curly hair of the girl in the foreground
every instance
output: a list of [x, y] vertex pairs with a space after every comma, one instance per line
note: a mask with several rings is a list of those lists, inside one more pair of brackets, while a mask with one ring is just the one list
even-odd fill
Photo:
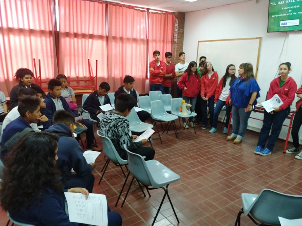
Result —
[[1, 206], [18, 212], [28, 207], [36, 194], [41, 201], [44, 188], [63, 190], [58, 180], [61, 172], [55, 166], [58, 136], [49, 132], [29, 132], [6, 157], [0, 189]]

